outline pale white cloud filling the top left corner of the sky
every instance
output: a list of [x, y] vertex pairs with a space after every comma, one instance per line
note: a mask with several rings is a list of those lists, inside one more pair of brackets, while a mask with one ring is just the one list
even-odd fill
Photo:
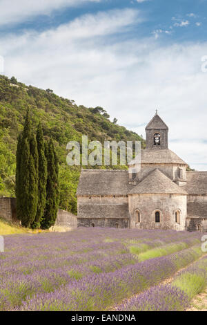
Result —
[[0, 26], [15, 24], [36, 15], [50, 15], [53, 10], [79, 6], [84, 2], [101, 0], [1, 0]]

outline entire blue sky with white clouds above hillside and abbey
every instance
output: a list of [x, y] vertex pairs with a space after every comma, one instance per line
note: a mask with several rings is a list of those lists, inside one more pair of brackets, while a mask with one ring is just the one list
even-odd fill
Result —
[[207, 170], [206, 24], [207, 0], [0, 0], [1, 73], [143, 135], [159, 109], [170, 149]]

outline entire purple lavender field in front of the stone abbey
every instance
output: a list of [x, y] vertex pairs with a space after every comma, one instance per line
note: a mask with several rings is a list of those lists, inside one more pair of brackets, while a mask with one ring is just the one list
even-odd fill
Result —
[[17, 234], [0, 253], [0, 310], [185, 310], [206, 285], [199, 232]]

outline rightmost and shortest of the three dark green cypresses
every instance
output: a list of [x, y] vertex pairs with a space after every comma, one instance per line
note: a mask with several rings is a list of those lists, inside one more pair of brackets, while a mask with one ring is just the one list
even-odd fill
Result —
[[48, 180], [46, 187], [46, 209], [41, 221], [42, 229], [49, 229], [55, 225], [59, 205], [59, 184], [58, 184], [58, 159], [52, 139], [46, 145], [46, 158], [48, 161]]

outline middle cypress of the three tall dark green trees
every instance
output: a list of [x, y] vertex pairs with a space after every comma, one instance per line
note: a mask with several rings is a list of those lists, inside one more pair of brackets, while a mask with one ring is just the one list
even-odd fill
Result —
[[34, 223], [32, 223], [32, 228], [40, 228], [41, 219], [43, 219], [43, 214], [46, 207], [48, 163], [45, 155], [45, 141], [43, 138], [41, 123], [39, 123], [37, 127], [36, 139], [37, 139], [37, 151], [39, 157], [38, 203], [37, 203], [37, 214], [35, 216]]

